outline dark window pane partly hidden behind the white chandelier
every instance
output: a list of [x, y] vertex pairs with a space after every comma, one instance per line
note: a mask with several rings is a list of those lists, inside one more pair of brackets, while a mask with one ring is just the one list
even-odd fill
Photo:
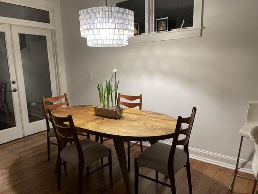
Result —
[[135, 12], [135, 23], [139, 23], [139, 34], [145, 33], [145, 0], [125, 0], [116, 6], [131, 9]]

